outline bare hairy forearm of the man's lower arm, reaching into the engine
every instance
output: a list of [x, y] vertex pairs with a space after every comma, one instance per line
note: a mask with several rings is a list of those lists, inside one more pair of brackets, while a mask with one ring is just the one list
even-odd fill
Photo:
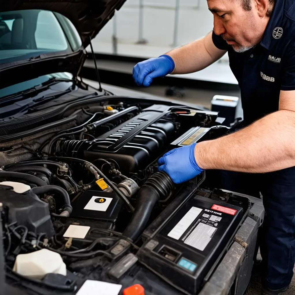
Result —
[[295, 112], [280, 110], [250, 126], [196, 145], [203, 169], [266, 173], [295, 166]]

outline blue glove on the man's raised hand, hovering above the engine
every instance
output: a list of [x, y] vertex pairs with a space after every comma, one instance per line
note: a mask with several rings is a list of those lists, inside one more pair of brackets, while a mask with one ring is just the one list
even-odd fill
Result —
[[165, 77], [175, 68], [173, 59], [169, 55], [160, 55], [137, 63], [133, 68], [133, 79], [138, 86], [150, 86], [153, 78]]

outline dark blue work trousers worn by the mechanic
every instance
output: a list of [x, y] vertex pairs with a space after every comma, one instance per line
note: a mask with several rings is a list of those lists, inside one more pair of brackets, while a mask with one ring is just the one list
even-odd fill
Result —
[[221, 187], [260, 198], [265, 219], [260, 237], [262, 284], [281, 289], [290, 284], [295, 263], [295, 167], [272, 173], [221, 171]]

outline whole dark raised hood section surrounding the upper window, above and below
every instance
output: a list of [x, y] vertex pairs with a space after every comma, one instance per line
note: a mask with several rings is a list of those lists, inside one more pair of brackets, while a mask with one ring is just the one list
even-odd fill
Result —
[[[49, 10], [67, 17], [76, 27], [82, 47], [70, 54], [44, 53], [0, 64], [1, 87], [41, 75], [70, 72], [77, 76], [86, 59], [86, 47], [126, 0], [0, 0], [0, 12]], [[22, 73], [26, 73], [24, 76]]]

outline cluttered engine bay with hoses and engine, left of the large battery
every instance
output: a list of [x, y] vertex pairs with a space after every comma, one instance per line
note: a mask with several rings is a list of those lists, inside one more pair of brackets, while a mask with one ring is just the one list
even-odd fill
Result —
[[[216, 112], [131, 98], [66, 112], [68, 117], [73, 114], [78, 115], [75, 120], [55, 127], [54, 132], [1, 144], [6, 272], [22, 286], [20, 278], [24, 279], [32, 292], [40, 287], [53, 294], [75, 292], [83, 278], [106, 279], [106, 269], [125, 255], [131, 259], [148, 242], [147, 228], [167, 207], [175, 206], [183, 191], [191, 194], [202, 184], [199, 196], [212, 196], [214, 177], [203, 172], [176, 185], [166, 173], [158, 172], [158, 159], [173, 148], [225, 135], [235, 126], [222, 126]], [[240, 206], [232, 210], [244, 214], [248, 210], [247, 201], [229, 199], [230, 206]], [[214, 204], [224, 199], [215, 200]], [[21, 259], [23, 254], [44, 250], [62, 257], [56, 277], [52, 269], [41, 277], [34, 275], [36, 265], [26, 267]], [[171, 260], [173, 250], [165, 251], [161, 255]], [[64, 278], [57, 277], [62, 274]], [[199, 285], [193, 290], [185, 290], [183, 284], [178, 287], [190, 294], [199, 289]]]

